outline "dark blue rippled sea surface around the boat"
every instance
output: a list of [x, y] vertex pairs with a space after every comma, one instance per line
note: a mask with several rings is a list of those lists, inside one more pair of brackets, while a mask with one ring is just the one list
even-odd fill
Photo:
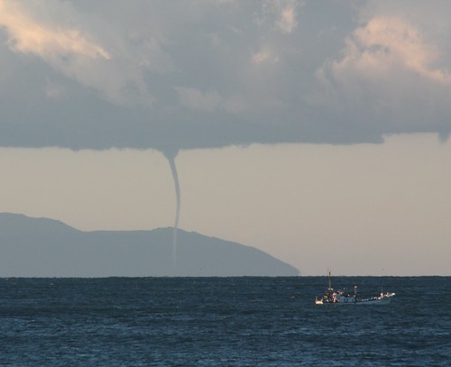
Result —
[[0, 366], [450, 366], [451, 277], [0, 279]]

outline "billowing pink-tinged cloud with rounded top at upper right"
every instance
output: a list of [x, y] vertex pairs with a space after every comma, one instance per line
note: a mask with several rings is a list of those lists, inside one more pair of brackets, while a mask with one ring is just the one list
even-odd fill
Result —
[[345, 45], [340, 60], [318, 69], [323, 92], [310, 102], [388, 114], [392, 124], [418, 124], [427, 113], [430, 120], [436, 108], [449, 111], [451, 73], [434, 67], [440, 53], [413, 24], [377, 16], [357, 28]]

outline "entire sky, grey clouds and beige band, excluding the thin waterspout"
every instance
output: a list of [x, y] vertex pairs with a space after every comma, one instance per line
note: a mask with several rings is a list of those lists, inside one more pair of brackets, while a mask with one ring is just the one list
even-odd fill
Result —
[[[0, 0], [0, 211], [301, 275], [451, 275], [447, 1]], [[172, 166], [173, 167], [173, 166]]]

